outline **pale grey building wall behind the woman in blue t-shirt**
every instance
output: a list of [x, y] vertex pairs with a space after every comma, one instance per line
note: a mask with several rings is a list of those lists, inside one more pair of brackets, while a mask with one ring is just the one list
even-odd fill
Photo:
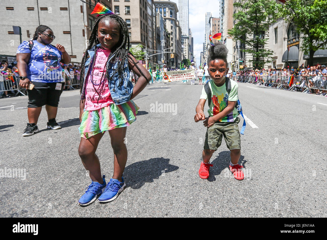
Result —
[[[111, 1], [97, 2], [112, 9]], [[91, 4], [96, 3], [91, 1]], [[3, 0], [1, 6], [0, 52], [3, 56], [6, 55], [4, 57], [10, 57], [9, 63], [16, 58], [16, 51], [20, 44], [20, 35], [15, 35], [12, 27], [21, 28], [21, 40], [25, 41], [33, 38], [35, 29], [39, 25], [49, 26], [53, 30], [56, 38], [52, 44], [63, 45], [71, 56], [72, 63], [81, 62], [96, 16], [96, 14], [91, 15], [93, 7], [81, 1], [67, 0]]]

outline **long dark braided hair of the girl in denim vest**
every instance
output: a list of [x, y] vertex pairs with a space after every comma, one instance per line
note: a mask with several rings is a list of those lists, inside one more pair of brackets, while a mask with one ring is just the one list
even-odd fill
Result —
[[[107, 69], [108, 62], [109, 62], [110, 58], [112, 59], [111, 60], [112, 63], [117, 62], [117, 69], [112, 74], [113, 75], [118, 74], [118, 76], [120, 78], [119, 86], [122, 86], [123, 85], [123, 79], [124, 79], [125, 59], [130, 59], [133, 62], [133, 64], [136, 66], [136, 68], [139, 70], [139, 72], [141, 72], [142, 76], [146, 78], [144, 73], [136, 65], [136, 62], [130, 56], [130, 55], [132, 55], [132, 53], [129, 51], [129, 33], [128, 33], [127, 23], [120, 16], [115, 15], [115, 14], [100, 15], [99, 17], [97, 17], [97, 19], [94, 22], [92, 32], [91, 32], [91, 35], [90, 35], [90, 38], [89, 38], [89, 44], [87, 46], [87, 49], [86, 49], [85, 54], [84, 54], [84, 56], [82, 58], [82, 61], [81, 61], [80, 79], [82, 79], [82, 81], [80, 81], [80, 91], [82, 91], [82, 89], [83, 89], [84, 75], [87, 74], [86, 72], [84, 72], [84, 65], [85, 65], [86, 59], [88, 58], [87, 50], [90, 50], [91, 48], [93, 48], [94, 46], [96, 46], [97, 44], [100, 43], [99, 40], [96, 37], [97, 31], [98, 31], [98, 24], [99, 24], [99, 22], [101, 20], [106, 20], [106, 19], [114, 20], [119, 24], [119, 26], [120, 26], [120, 38], [119, 38], [118, 43], [112, 48], [111, 53], [108, 56], [107, 62], [105, 64], [105, 69]], [[106, 71], [105, 76], [108, 79], [108, 83], [112, 84], [112, 79], [110, 78], [110, 76], [108, 74], [108, 71]]]

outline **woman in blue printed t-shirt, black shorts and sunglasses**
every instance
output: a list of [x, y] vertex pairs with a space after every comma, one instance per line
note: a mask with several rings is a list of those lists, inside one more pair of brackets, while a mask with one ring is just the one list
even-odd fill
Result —
[[[23, 136], [39, 132], [36, 124], [44, 105], [49, 120], [46, 127], [61, 128], [56, 122], [59, 98], [65, 85], [60, 62], [68, 64], [71, 59], [62, 45], [50, 44], [54, 39], [51, 28], [40, 25], [33, 40], [24, 41], [17, 49], [19, 85], [28, 93], [28, 123]], [[29, 88], [30, 84], [34, 85], [33, 89]]]

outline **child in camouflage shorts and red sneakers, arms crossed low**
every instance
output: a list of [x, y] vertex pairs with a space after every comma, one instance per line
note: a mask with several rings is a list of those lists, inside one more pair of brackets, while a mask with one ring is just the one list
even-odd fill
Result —
[[[207, 127], [199, 176], [202, 179], [209, 177], [209, 169], [212, 154], [221, 145], [224, 136], [226, 145], [231, 151], [231, 162], [229, 169], [237, 180], [244, 179], [242, 166], [238, 165], [241, 155], [241, 139], [238, 130], [238, 110], [235, 108], [238, 101], [238, 85], [233, 80], [226, 77], [228, 73], [227, 65], [228, 49], [222, 43], [215, 43], [208, 50], [207, 63], [210, 70], [211, 80], [203, 86], [200, 100], [196, 107], [197, 114], [194, 116], [196, 122], [204, 120], [203, 125]], [[227, 83], [229, 82], [229, 83]], [[230, 85], [229, 85], [230, 84]], [[209, 87], [210, 91], [208, 88]], [[228, 89], [230, 88], [230, 92]], [[210, 92], [210, 97], [208, 93]], [[209, 117], [203, 113], [204, 105], [209, 101]]]

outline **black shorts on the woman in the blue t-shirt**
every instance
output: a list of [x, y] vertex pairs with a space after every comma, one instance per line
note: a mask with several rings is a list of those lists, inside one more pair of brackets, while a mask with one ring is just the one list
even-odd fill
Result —
[[60, 90], [56, 89], [57, 83], [39, 83], [32, 81], [32, 84], [34, 84], [34, 88], [32, 90], [27, 89], [27, 107], [42, 107], [45, 104], [58, 107], [59, 98], [65, 83], [60, 83]]

